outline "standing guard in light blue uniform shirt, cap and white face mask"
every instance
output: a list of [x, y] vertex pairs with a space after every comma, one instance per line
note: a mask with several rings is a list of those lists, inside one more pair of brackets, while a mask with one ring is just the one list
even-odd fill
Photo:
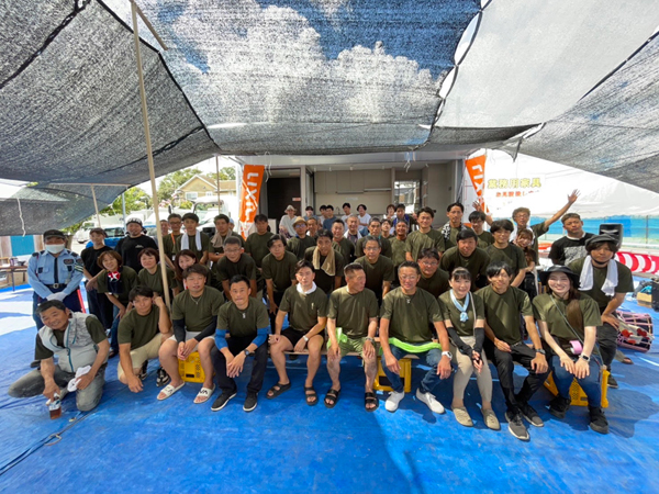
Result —
[[[80, 281], [85, 266], [82, 259], [66, 248], [66, 235], [59, 229], [44, 232], [44, 250], [34, 252], [27, 262], [27, 281], [32, 287], [32, 319], [38, 330], [42, 317], [37, 305], [45, 301], [57, 300], [71, 312], [82, 312]], [[30, 367], [38, 367], [33, 360]]]

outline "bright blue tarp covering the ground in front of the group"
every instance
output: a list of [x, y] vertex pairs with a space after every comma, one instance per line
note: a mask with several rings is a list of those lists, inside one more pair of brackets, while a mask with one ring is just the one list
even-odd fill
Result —
[[[532, 428], [530, 441], [522, 442], [507, 431], [498, 382], [493, 404], [502, 430], [489, 430], [473, 379], [466, 395], [473, 428], [460, 426], [449, 406], [445, 415], [431, 413], [414, 393], [395, 414], [384, 409], [386, 394], [380, 394], [380, 408], [367, 413], [364, 372], [355, 358], [344, 360], [343, 392], [334, 409], [304, 404], [305, 359], [300, 358], [288, 363], [292, 390], [272, 401], [265, 398], [277, 381], [269, 364], [258, 407], [249, 414], [242, 407], [244, 377], [238, 396], [212, 413], [211, 402], [192, 403], [200, 384], [158, 402], [156, 361], [144, 392], [131, 393], [116, 380], [113, 359], [97, 409], [78, 413], [69, 395], [62, 418], [51, 420], [43, 396], [7, 395], [33, 358], [31, 296], [27, 287], [0, 292], [2, 492], [659, 491], [657, 347], [648, 353], [624, 350], [634, 366], [614, 362], [619, 389], [608, 392], [608, 436], [589, 429], [584, 407], [571, 407], [565, 420], [554, 418], [547, 409], [550, 393], [541, 389], [532, 404], [545, 427]], [[625, 307], [651, 312], [635, 302]], [[651, 313], [657, 323], [658, 314]], [[415, 366], [413, 390], [421, 374]], [[523, 378], [517, 370], [518, 384]], [[330, 388], [324, 363], [315, 388], [321, 396]], [[435, 391], [450, 404], [450, 382]]]

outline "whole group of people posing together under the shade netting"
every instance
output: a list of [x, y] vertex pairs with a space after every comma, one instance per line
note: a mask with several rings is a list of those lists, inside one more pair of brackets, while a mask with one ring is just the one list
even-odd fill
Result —
[[[48, 231], [45, 250], [35, 252], [29, 266], [40, 369], [9, 393], [53, 398], [78, 379], [78, 407], [90, 409], [100, 401], [107, 361], [115, 353], [119, 379], [132, 392], [143, 391], [148, 360], [158, 358], [156, 384], [163, 389], [157, 398], [167, 400], [185, 385], [179, 361], [197, 351], [205, 379], [194, 403], [205, 403], [219, 388], [212, 411], [236, 396], [235, 378], [253, 359], [243, 406], [250, 412], [268, 355], [278, 379], [266, 398], [291, 390], [286, 360], [292, 352], [308, 355], [303, 400], [313, 406], [320, 402], [314, 379], [326, 351], [332, 381], [322, 398], [326, 407], [340, 397], [342, 358], [357, 353], [366, 374], [365, 409], [378, 408], [373, 382], [381, 355], [393, 389], [384, 406], [393, 413], [405, 394], [400, 361], [415, 356], [428, 369], [415, 395], [434, 413], [445, 411], [435, 392], [456, 368], [451, 409], [463, 426], [473, 425], [463, 396], [476, 375], [483, 422], [500, 428], [492, 407], [492, 363], [509, 430], [516, 438], [528, 440], [525, 420], [544, 425], [529, 401], [549, 371], [558, 389], [549, 412], [565, 417], [577, 379], [588, 395], [590, 427], [606, 434], [602, 369], [610, 369], [615, 356], [614, 313], [633, 291], [632, 274], [614, 259], [615, 238], [584, 234], [579, 215], [566, 214], [577, 197], [570, 194], [552, 218], [532, 226], [528, 210], [513, 214], [516, 225], [477, 210], [467, 226], [461, 223], [465, 207], [454, 203], [443, 227], [433, 228], [435, 211], [422, 207], [416, 229], [409, 232], [411, 218], [399, 205], [393, 220], [370, 217], [367, 235], [360, 232], [362, 215], [351, 214], [349, 204], [344, 204], [345, 217], [334, 217], [330, 206], [332, 216], [322, 223], [314, 215], [294, 216], [288, 235], [269, 232], [267, 216], [259, 214], [246, 239], [231, 231], [225, 215], [215, 218], [216, 233], [210, 238], [197, 229], [194, 214], [172, 214], [165, 260], [137, 235], [142, 225], [133, 235], [129, 224], [129, 237], [116, 250], [103, 246], [102, 231], [92, 231], [92, 250], [80, 258], [64, 248], [64, 234]], [[555, 266], [539, 272], [545, 293], [528, 293], [524, 280], [529, 263], [538, 262], [538, 236], [560, 217], [568, 236], [555, 243]], [[485, 222], [491, 223], [489, 232]], [[511, 242], [512, 235], [526, 243]], [[170, 310], [164, 303], [161, 270], [174, 295]], [[92, 315], [81, 312], [76, 297], [82, 278]], [[99, 312], [99, 303], [92, 305], [92, 296], [110, 302], [110, 319]], [[528, 371], [518, 391], [515, 363]], [[88, 371], [76, 375], [85, 367]]]

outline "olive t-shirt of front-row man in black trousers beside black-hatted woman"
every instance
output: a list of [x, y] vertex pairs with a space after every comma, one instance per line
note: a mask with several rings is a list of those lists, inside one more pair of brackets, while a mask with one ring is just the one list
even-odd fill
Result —
[[[494, 332], [494, 336], [509, 345], [522, 341], [520, 314], [533, 315], [526, 292], [515, 287], [509, 287], [505, 293], [500, 295], [492, 289], [492, 285], [488, 285], [476, 294], [483, 300], [485, 321]], [[533, 328], [528, 328], [528, 330], [533, 330]]]

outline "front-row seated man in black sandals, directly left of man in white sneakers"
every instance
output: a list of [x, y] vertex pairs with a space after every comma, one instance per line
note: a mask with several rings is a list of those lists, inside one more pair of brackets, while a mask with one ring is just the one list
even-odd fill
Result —
[[340, 359], [350, 351], [358, 351], [364, 359], [367, 412], [378, 407], [373, 382], [378, 373], [376, 357], [376, 330], [378, 329], [378, 300], [366, 287], [366, 273], [361, 265], [353, 262], [345, 267], [346, 287], [330, 296], [327, 310], [327, 371], [332, 388], [325, 395], [325, 406], [334, 408], [340, 394]]

